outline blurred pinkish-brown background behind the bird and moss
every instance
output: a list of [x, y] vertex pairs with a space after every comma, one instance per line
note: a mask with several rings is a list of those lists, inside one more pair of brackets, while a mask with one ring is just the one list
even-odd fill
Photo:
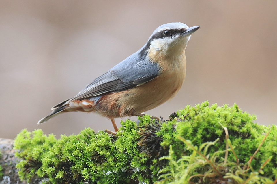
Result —
[[168, 118], [187, 104], [236, 102], [256, 122], [277, 124], [277, 1], [1, 0], [0, 137], [24, 128], [57, 137], [113, 130], [110, 120], [83, 112], [36, 123], [169, 22], [201, 28], [186, 49], [181, 91], [148, 114]]

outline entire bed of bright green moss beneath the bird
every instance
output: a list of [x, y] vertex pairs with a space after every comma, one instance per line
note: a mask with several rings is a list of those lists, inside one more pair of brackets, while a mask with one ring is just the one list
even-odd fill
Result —
[[[18, 174], [27, 181], [47, 178], [48, 183], [272, 183], [277, 178], [277, 129], [256, 124], [255, 118], [236, 104], [204, 102], [168, 121], [148, 115], [139, 117], [138, 126], [122, 121], [115, 136], [87, 128], [57, 140], [40, 129], [24, 129], [15, 139], [16, 156], [22, 159]], [[227, 127], [233, 147], [227, 163], [220, 124]], [[268, 131], [250, 167], [244, 168]]]

